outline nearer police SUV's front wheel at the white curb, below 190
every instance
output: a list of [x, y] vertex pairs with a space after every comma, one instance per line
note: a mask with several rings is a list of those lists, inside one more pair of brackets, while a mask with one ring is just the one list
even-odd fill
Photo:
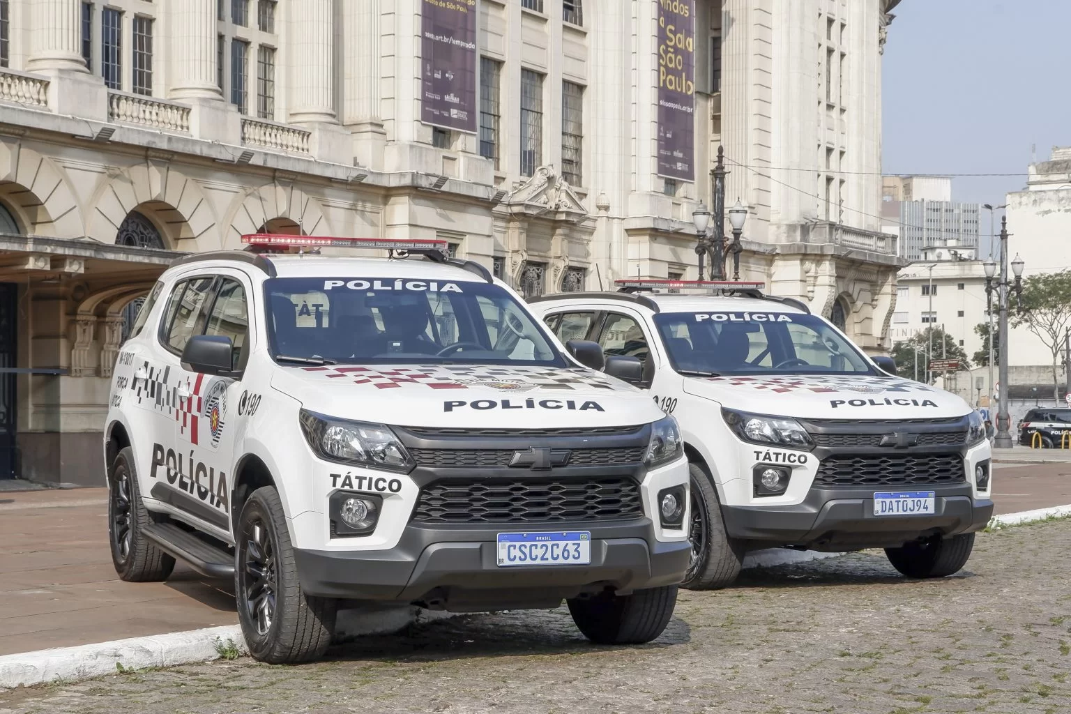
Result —
[[337, 602], [301, 590], [274, 486], [253, 492], [235, 533], [235, 596], [250, 654], [272, 665], [321, 657], [331, 644]]

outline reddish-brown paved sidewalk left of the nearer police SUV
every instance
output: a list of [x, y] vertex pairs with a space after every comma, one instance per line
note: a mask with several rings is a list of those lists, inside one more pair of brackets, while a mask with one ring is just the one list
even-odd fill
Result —
[[103, 488], [0, 495], [0, 655], [238, 622], [231, 583], [182, 564], [121, 581]]

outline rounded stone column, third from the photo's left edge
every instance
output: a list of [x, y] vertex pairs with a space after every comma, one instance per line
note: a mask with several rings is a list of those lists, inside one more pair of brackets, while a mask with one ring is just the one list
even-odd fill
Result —
[[290, 117], [296, 124], [336, 122], [331, 0], [290, 2]]

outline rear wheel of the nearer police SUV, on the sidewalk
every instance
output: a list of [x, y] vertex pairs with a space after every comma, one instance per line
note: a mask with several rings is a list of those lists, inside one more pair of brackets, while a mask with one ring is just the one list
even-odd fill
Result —
[[134, 452], [126, 446], [108, 473], [108, 544], [116, 573], [127, 582], [160, 582], [175, 569], [175, 559], [145, 536], [142, 530], [165, 518], [141, 501]]

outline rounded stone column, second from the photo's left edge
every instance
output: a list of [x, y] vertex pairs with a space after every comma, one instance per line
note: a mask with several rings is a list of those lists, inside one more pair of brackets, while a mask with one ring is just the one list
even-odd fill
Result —
[[216, 83], [216, 0], [182, 0], [170, 10], [172, 100], [222, 100]]

